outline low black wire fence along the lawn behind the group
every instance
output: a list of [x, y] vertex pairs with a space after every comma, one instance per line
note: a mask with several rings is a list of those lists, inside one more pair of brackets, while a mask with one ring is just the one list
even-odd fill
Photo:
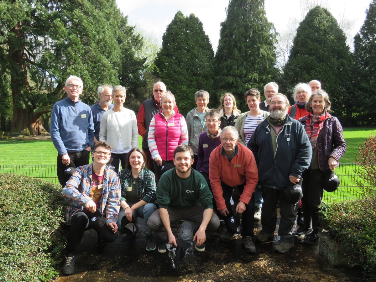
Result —
[[[343, 163], [336, 168], [335, 172], [341, 180], [340, 187], [332, 193], [324, 191], [324, 202], [351, 200], [360, 196], [357, 181], [363, 181], [361, 175], [355, 173], [356, 168], [357, 164], [355, 163]], [[0, 173], [15, 173], [59, 183], [56, 165], [0, 165]], [[367, 184], [364, 185], [367, 187]], [[375, 189], [376, 187], [369, 186], [368, 188]]]

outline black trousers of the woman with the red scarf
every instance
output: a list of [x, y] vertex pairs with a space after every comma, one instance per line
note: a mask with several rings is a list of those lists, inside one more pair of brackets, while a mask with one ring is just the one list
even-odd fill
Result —
[[[324, 188], [321, 186], [321, 181], [324, 177], [324, 171], [320, 169], [306, 170], [302, 177], [302, 191], [303, 191], [303, 217], [304, 226], [311, 227], [314, 232], [317, 232], [318, 224], [318, 205], [323, 200]], [[311, 224], [312, 221], [312, 224]]]

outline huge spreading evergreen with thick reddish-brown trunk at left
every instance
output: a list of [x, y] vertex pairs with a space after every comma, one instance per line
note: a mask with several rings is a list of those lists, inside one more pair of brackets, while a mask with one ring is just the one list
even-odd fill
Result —
[[[99, 84], [136, 83], [123, 77], [138, 75], [141, 39], [127, 27], [115, 0], [9, 0], [0, 2], [0, 11], [0, 83], [10, 85], [11, 131], [47, 133], [41, 116], [65, 96], [70, 74], [82, 78], [88, 104], [97, 100]], [[124, 61], [131, 65], [127, 72]]]

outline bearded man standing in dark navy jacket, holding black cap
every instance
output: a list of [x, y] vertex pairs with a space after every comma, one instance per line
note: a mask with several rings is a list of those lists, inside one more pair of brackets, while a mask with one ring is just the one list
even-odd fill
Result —
[[280, 241], [274, 246], [274, 250], [279, 253], [286, 253], [294, 246], [296, 233], [299, 199], [291, 202], [286, 195], [293, 185], [301, 183], [300, 177], [309, 167], [312, 156], [309, 139], [302, 124], [287, 115], [289, 106], [285, 95], [277, 93], [273, 96], [270, 101], [270, 116], [256, 127], [248, 142], [248, 148], [253, 152], [258, 166], [259, 185], [264, 199], [262, 230], [255, 239], [266, 242], [273, 238], [279, 202]]

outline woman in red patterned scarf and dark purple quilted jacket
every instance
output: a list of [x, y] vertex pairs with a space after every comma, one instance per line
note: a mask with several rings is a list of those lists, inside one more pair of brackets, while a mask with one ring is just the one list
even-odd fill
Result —
[[302, 175], [304, 225], [297, 230], [296, 237], [304, 238], [308, 244], [320, 241], [317, 213], [323, 199], [323, 179], [339, 165], [338, 161], [346, 150], [341, 123], [329, 114], [330, 108], [328, 94], [320, 89], [312, 93], [306, 104], [308, 114], [299, 119], [311, 142], [312, 159]]

